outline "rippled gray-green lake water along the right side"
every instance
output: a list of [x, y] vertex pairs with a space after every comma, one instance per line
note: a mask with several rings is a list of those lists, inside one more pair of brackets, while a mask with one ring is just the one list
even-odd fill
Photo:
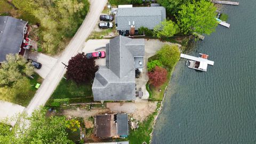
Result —
[[230, 28], [218, 26], [188, 53], [209, 54], [214, 66], [200, 73], [179, 61], [153, 143], [256, 143], [256, 1], [222, 9]]

